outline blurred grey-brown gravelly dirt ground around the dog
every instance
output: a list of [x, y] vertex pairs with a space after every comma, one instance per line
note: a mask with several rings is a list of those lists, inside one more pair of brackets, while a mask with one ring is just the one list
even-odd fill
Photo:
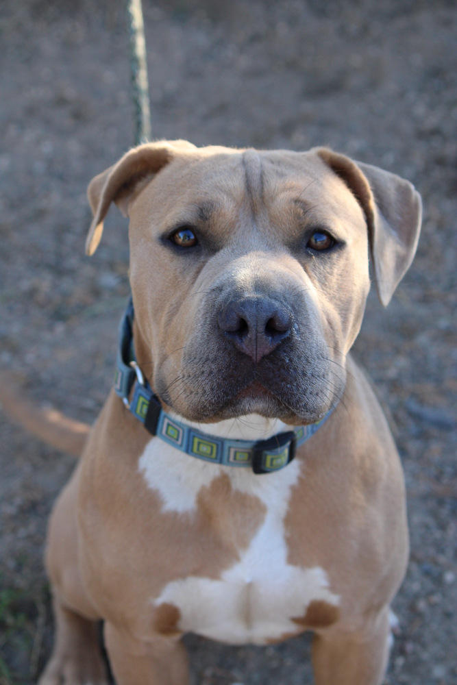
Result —
[[[330, 145], [423, 195], [417, 258], [387, 310], [372, 293], [355, 351], [391, 410], [408, 489], [412, 551], [385, 683], [456, 685], [456, 4], [144, 4], [154, 137]], [[25, 393], [92, 421], [129, 292], [114, 210], [84, 256], [88, 181], [133, 142], [123, 3], [1, 0], [0, 47], [0, 364]], [[0, 684], [28, 685], [51, 645], [47, 517], [74, 460], [0, 423]], [[312, 682], [307, 638], [186, 642], [195, 685]]]

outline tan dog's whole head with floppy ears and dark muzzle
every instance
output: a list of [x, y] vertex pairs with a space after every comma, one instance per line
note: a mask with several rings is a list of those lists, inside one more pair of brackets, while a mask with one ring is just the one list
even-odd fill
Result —
[[369, 291], [384, 306], [415, 253], [419, 194], [328, 149], [156, 142], [92, 180], [92, 254], [129, 216], [138, 362], [194, 421], [256, 412], [318, 421], [345, 385]]

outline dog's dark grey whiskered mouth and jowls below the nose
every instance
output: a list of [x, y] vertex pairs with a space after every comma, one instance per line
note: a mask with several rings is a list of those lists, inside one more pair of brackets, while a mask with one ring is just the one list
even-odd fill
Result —
[[[214, 423], [247, 414], [291, 425], [314, 423], [341, 395], [345, 371], [325, 350], [294, 349], [291, 342], [257, 364], [227, 348], [226, 354], [193, 356], [176, 382], [156, 377], [165, 403], [190, 421]], [[198, 363], [198, 361], [203, 363]], [[162, 392], [161, 392], [162, 390]]]

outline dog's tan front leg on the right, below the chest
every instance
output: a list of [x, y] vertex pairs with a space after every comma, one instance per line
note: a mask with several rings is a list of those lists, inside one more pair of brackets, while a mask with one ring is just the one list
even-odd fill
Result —
[[358, 632], [316, 634], [312, 665], [316, 685], [380, 685], [386, 670], [391, 627], [388, 608]]

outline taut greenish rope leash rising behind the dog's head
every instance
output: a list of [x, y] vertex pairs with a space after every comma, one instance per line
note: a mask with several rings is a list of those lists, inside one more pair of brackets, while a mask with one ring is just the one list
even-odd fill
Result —
[[151, 138], [151, 110], [147, 80], [145, 26], [141, 0], [127, 0], [132, 51], [132, 95], [135, 108], [135, 145]]

